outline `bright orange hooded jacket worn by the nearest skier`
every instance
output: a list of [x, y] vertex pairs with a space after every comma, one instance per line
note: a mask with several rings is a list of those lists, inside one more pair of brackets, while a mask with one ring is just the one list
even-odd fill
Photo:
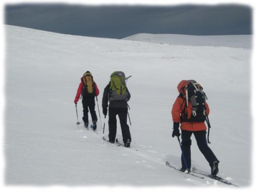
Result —
[[[186, 86], [188, 83], [188, 81], [181, 81], [178, 84], [178, 91], [180, 94], [183, 94], [182, 91], [182, 87]], [[210, 109], [207, 103], [205, 103], [205, 107], [206, 107], [206, 114], [209, 115], [210, 113]], [[173, 122], [180, 122], [181, 118], [181, 113], [183, 112], [185, 108], [185, 97], [182, 98], [180, 96], [178, 96], [172, 106], [172, 110], [171, 110], [171, 115], [172, 115], [172, 121]], [[187, 131], [204, 131], [206, 130], [206, 126], [204, 122], [182, 122], [181, 123], [181, 129], [182, 130], [187, 130]]]

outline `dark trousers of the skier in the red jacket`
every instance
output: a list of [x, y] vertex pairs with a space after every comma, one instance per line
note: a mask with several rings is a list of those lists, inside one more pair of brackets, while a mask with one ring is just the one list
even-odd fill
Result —
[[[88, 112], [90, 110], [91, 116], [92, 116], [92, 122], [97, 122], [97, 115], [95, 112], [95, 99], [94, 97], [88, 97], [88, 98], [83, 98], [82, 100], [82, 104], [83, 104], [83, 112], [84, 112], [84, 116], [83, 116], [83, 121], [85, 123], [88, 123]], [[89, 108], [89, 110], [88, 110]]]

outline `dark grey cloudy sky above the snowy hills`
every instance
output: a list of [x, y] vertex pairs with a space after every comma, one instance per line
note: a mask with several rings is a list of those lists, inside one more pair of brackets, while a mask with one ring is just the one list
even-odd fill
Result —
[[5, 6], [5, 24], [64, 34], [124, 38], [137, 33], [186, 35], [252, 34], [252, 9], [242, 5]]

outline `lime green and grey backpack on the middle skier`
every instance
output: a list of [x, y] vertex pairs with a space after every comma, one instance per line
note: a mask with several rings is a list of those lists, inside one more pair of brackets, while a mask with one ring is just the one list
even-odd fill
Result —
[[126, 90], [125, 73], [122, 71], [114, 71], [110, 77], [110, 96], [109, 100], [126, 100], [128, 93]]

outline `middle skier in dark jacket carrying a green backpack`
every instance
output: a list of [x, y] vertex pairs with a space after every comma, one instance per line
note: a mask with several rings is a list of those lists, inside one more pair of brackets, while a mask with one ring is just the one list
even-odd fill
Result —
[[[127, 101], [130, 99], [130, 93], [129, 93], [126, 85], [123, 85], [123, 94], [116, 93], [120, 89], [122, 92], [122, 86], [120, 86], [121, 88], [118, 86], [120, 84], [120, 81], [118, 80], [119, 79], [118, 75], [123, 76], [123, 78], [125, 80], [125, 75], [123, 72], [115, 71], [114, 73], [112, 73], [111, 82], [109, 82], [109, 84], [104, 89], [103, 98], [102, 98], [102, 108], [103, 108], [103, 114], [106, 117], [108, 107], [109, 107], [109, 121], [108, 121], [108, 123], [109, 123], [109, 142], [111, 142], [111, 143], [115, 142], [116, 115], [118, 115], [120, 124], [121, 124], [123, 142], [125, 144], [125, 147], [129, 147], [130, 142], [131, 142], [131, 136], [130, 136], [129, 126], [127, 124], [127, 116], [128, 116]], [[117, 80], [114, 79], [114, 76], [117, 77], [116, 78]], [[117, 82], [115, 83], [115, 81], [117, 81]], [[112, 88], [112, 87], [114, 87], [114, 88]], [[115, 90], [115, 88], [116, 88], [116, 90]], [[109, 106], [108, 106], [108, 102], [109, 102]]]

